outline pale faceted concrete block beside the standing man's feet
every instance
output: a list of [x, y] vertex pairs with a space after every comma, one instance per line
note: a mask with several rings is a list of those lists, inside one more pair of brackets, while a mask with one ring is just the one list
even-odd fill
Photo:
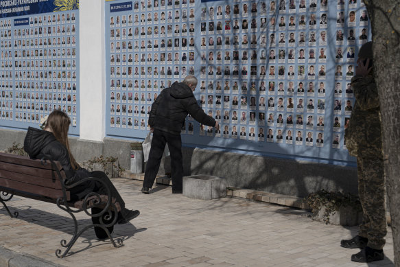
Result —
[[226, 180], [209, 175], [183, 177], [183, 196], [210, 200], [226, 196]]

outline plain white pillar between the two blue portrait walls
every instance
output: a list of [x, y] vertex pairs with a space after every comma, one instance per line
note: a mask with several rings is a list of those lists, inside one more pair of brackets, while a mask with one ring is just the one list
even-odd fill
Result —
[[105, 136], [104, 1], [80, 1], [80, 139]]

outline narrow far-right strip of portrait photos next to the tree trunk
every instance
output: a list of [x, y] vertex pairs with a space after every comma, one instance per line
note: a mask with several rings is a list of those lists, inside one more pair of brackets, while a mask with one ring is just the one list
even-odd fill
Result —
[[[358, 3], [357, 5], [357, 2]], [[355, 75], [357, 65], [356, 51], [364, 45], [368, 36], [369, 19], [364, 1], [338, 0], [336, 10], [336, 44], [335, 44], [335, 86], [333, 89], [333, 148], [346, 148], [344, 129], [350, 124], [353, 111], [354, 95], [351, 78]]]

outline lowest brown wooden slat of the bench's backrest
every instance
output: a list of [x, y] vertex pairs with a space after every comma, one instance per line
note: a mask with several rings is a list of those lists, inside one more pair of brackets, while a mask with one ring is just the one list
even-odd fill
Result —
[[[10, 189], [17, 189], [18, 191], [36, 194], [40, 196], [47, 196], [48, 198], [59, 198], [63, 196], [62, 190], [42, 187], [38, 185], [30, 185], [19, 181], [0, 178], [0, 187], [8, 187]], [[7, 190], [5, 190], [7, 191]], [[69, 199], [69, 191], [67, 191], [67, 198]]]

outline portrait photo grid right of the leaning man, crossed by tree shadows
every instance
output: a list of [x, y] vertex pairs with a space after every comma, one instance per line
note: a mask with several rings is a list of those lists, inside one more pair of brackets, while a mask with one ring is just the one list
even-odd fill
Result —
[[[329, 131], [332, 148], [340, 148], [353, 106], [355, 51], [368, 39], [368, 17], [360, 6], [334, 6], [333, 58], [327, 53], [332, 22], [325, 0], [202, 3], [200, 103], [221, 128], [201, 126], [199, 134], [322, 148]], [[336, 62], [335, 84], [327, 83], [327, 60]], [[333, 118], [326, 111], [332, 95]]]

